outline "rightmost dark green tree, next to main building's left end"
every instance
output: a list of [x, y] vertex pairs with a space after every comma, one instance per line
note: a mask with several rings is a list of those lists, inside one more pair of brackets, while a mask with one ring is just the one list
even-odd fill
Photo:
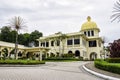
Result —
[[30, 34], [30, 43], [33, 43], [34, 46], [38, 46], [39, 43], [36, 39], [42, 37], [43, 34], [37, 30], [33, 31], [31, 34]]

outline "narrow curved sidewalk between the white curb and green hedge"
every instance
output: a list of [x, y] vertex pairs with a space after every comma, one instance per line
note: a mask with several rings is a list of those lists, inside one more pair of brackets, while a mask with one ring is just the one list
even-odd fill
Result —
[[93, 62], [85, 64], [85, 67], [92, 70], [92, 71], [95, 71], [97, 73], [103, 74], [103, 75], [120, 78], [119, 74], [115, 74], [115, 73], [111, 73], [111, 72], [108, 72], [108, 71], [104, 71], [104, 70], [95, 68]]

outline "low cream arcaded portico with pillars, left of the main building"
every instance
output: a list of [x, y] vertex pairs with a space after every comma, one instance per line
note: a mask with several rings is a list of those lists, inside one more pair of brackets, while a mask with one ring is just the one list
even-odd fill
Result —
[[[10, 57], [10, 52], [15, 48], [14, 43], [8, 43], [8, 42], [3, 42], [0, 41], [0, 57], [2, 58], [2, 54], [4, 54], [3, 50], [7, 49], [7, 57]], [[39, 60], [42, 61], [42, 54], [47, 53], [49, 51], [49, 48], [43, 48], [43, 47], [25, 47], [23, 45], [18, 45], [18, 53], [21, 52], [22, 56], [26, 56], [27, 53], [34, 53], [34, 54], [39, 54]], [[23, 54], [24, 52], [24, 54]], [[19, 56], [20, 57], [20, 56]], [[18, 54], [17, 54], [18, 58]]]

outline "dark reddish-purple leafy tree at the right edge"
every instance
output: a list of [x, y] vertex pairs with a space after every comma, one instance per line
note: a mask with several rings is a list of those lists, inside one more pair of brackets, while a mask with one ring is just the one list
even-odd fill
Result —
[[113, 43], [109, 43], [110, 57], [120, 57], [120, 39], [114, 40]]

